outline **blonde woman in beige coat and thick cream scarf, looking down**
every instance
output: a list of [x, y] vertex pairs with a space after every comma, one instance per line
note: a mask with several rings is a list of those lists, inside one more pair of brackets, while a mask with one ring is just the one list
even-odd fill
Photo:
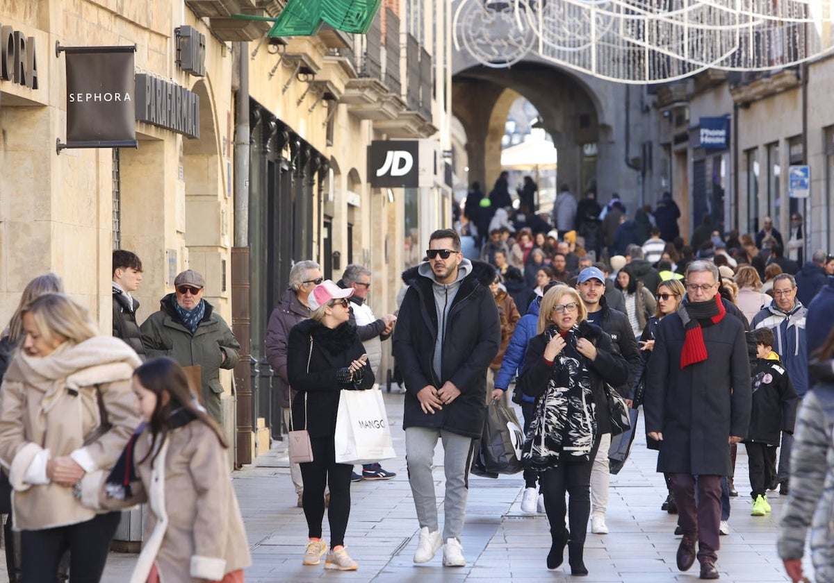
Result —
[[140, 361], [60, 293], [24, 306], [21, 324], [3, 378], [0, 462], [14, 488], [23, 580], [55, 581], [69, 551], [73, 581], [99, 581], [119, 513], [93, 510], [98, 484], [83, 478], [112, 468], [138, 426], [130, 378]]

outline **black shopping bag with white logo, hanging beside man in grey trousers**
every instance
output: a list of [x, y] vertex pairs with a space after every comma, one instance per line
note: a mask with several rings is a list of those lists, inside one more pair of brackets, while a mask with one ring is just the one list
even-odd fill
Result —
[[521, 466], [524, 431], [515, 411], [492, 401], [486, 407], [486, 422], [480, 437], [480, 458], [490, 474], [516, 474]]

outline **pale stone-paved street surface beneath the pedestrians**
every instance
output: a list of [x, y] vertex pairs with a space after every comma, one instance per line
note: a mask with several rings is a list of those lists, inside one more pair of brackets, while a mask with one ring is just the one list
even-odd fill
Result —
[[[520, 475], [501, 476], [498, 480], [473, 477], [470, 481], [462, 541], [467, 559], [464, 568], [443, 567], [442, 551], [425, 566], [413, 565], [418, 526], [405, 475], [402, 398], [385, 396], [399, 457], [386, 461], [384, 467], [397, 471], [398, 476], [392, 481], [361, 481], [353, 485], [346, 543], [350, 555], [359, 563], [359, 571], [342, 573], [301, 565], [307, 536], [304, 514], [295, 506], [286, 456], [276, 447], [256, 466], [234, 474], [254, 559], [246, 580], [575, 581], [566, 560], [565, 566], [556, 571], [545, 568], [550, 548], [547, 520], [544, 515], [520, 512]], [[442, 454], [435, 458], [435, 483], [441, 495], [442, 461]], [[660, 511], [665, 493], [662, 476], [655, 472], [655, 462], [656, 453], [647, 451], [645, 438], [638, 436], [624, 470], [620, 476], [612, 476], [607, 519], [611, 534], [588, 535], [585, 563], [590, 575], [584, 581], [697, 581], [697, 563], [687, 573], [676, 569], [675, 551], [680, 537], [672, 535], [676, 517]], [[741, 447], [736, 487], [742, 495], [749, 491], [746, 471], [746, 456]], [[731, 534], [721, 537], [717, 564], [721, 581], [788, 581], [775, 545], [776, 521], [784, 504], [784, 497], [771, 495], [772, 515], [754, 518], [750, 516], [749, 500], [741, 496], [732, 499]], [[442, 508], [441, 503], [441, 524]], [[325, 540], [327, 536], [325, 526]], [[134, 561], [134, 556], [113, 554], [103, 581], [128, 581]]]

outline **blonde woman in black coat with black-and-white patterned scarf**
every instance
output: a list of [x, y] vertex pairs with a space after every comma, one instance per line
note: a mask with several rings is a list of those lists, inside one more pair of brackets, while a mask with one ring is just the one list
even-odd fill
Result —
[[[573, 288], [545, 293], [539, 335], [530, 340], [520, 390], [536, 398], [524, 457], [540, 472], [552, 545], [547, 568], [560, 566], [568, 545], [572, 575], [587, 575], [583, 553], [590, 515], [590, 471], [600, 435], [611, 431], [605, 383], [619, 386], [628, 364], [587, 311]], [[565, 529], [565, 492], [570, 494], [570, 532]], [[570, 539], [570, 540], [569, 540]]]

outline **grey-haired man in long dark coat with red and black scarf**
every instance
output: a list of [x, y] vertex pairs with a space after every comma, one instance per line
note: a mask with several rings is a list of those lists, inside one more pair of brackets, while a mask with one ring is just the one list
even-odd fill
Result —
[[701, 579], [718, 579], [721, 476], [732, 475], [728, 444], [746, 437], [752, 401], [744, 325], [726, 317], [717, 292], [715, 264], [691, 262], [686, 301], [658, 326], [643, 405], [680, 513], [677, 566], [692, 566], [698, 541]]

